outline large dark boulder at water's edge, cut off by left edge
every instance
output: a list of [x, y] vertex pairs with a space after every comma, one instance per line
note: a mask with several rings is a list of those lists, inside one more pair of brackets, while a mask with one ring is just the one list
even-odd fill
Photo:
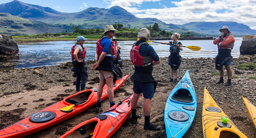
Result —
[[18, 45], [12, 35], [0, 34], [0, 55], [13, 55], [18, 53]]

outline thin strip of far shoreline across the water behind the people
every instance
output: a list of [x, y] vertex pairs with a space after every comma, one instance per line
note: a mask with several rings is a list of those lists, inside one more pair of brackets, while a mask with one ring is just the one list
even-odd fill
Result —
[[[179, 40], [213, 40], [213, 37], [183, 37], [179, 38]], [[76, 39], [43, 39], [43, 40], [37, 40], [37, 39], [14, 39], [16, 43], [22, 44], [22, 43], [40, 43], [40, 42], [51, 42], [51, 41], [76, 41]], [[89, 41], [97, 40], [97, 39], [88, 39]], [[137, 40], [137, 38], [127, 38], [127, 39], [118, 39], [119, 41], [129, 41], [129, 40]], [[171, 38], [151, 38], [150, 40], [172, 40]]]

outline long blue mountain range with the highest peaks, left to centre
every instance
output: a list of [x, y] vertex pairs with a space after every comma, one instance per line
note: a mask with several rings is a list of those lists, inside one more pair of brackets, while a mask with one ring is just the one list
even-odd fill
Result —
[[3, 3], [0, 12], [10, 13], [14, 16], [24, 17], [30, 20], [41, 21], [51, 24], [75, 25], [80, 29], [103, 29], [107, 24], [122, 23], [124, 27], [143, 28], [158, 23], [160, 29], [168, 31], [183, 30], [185, 27], [175, 24], [167, 24], [155, 18], [138, 18], [119, 6], [110, 9], [89, 7], [83, 11], [64, 13], [55, 11], [49, 7], [26, 4], [19, 0]]

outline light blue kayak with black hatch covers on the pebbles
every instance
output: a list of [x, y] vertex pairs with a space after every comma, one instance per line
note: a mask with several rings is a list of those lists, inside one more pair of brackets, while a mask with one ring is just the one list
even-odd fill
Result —
[[170, 93], [165, 104], [165, 128], [167, 138], [182, 138], [196, 115], [196, 93], [186, 71]]

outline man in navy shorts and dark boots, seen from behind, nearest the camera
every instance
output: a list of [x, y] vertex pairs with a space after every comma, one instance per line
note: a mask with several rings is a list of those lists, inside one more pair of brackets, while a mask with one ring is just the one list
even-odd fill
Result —
[[150, 32], [146, 28], [140, 29], [137, 37], [138, 41], [131, 48], [131, 62], [135, 65], [135, 72], [131, 76], [133, 80], [133, 98], [131, 99], [132, 119], [138, 119], [136, 115], [137, 101], [140, 94], [144, 97], [144, 129], [160, 130], [160, 127], [150, 123], [151, 102], [155, 93], [156, 81], [152, 75], [153, 65], [160, 64], [161, 60], [154, 48], [146, 41], [150, 39]]

